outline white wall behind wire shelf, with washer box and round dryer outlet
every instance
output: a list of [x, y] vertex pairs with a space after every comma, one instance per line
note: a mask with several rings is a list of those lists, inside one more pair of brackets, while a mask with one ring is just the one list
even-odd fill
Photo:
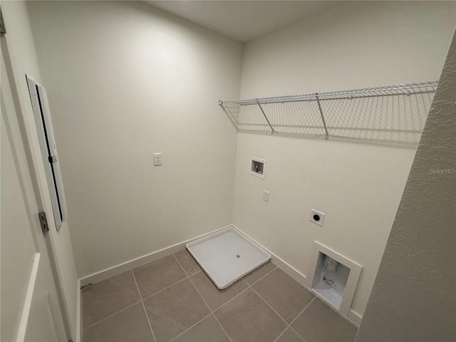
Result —
[[[241, 97], [435, 80], [455, 13], [454, 2], [340, 4], [247, 43]], [[363, 142], [241, 133], [233, 223], [304, 275], [314, 271], [314, 240], [363, 265], [350, 314], [359, 321], [414, 155]], [[249, 175], [250, 156], [267, 160], [266, 180]], [[311, 208], [326, 214], [323, 228], [309, 222]]]

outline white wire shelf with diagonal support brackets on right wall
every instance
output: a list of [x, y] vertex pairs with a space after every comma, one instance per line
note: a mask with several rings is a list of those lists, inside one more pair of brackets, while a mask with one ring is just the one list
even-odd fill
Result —
[[247, 100], [219, 100], [238, 132], [416, 145], [437, 81]]

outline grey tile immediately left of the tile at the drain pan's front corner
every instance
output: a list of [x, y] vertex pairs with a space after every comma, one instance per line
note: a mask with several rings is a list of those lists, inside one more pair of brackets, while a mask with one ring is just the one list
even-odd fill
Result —
[[171, 341], [210, 314], [189, 279], [144, 300], [157, 342]]

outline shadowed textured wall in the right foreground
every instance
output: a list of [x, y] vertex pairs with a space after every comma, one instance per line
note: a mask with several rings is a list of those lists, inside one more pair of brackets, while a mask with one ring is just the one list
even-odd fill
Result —
[[456, 341], [456, 34], [356, 341]]

